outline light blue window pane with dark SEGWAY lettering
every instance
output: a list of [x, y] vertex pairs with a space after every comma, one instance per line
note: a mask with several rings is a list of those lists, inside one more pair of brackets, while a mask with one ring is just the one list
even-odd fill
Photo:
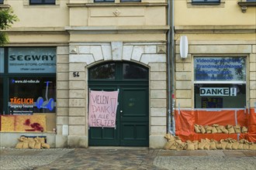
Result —
[[56, 73], [56, 48], [9, 48], [9, 73]]

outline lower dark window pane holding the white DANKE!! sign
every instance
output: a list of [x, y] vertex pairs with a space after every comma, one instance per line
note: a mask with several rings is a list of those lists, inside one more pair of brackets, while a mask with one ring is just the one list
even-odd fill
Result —
[[246, 84], [195, 84], [195, 108], [244, 108]]

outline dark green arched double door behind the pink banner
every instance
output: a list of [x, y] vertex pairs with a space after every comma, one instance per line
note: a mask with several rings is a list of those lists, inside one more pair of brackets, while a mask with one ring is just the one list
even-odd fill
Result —
[[88, 70], [90, 90], [119, 90], [116, 128], [89, 128], [89, 145], [148, 146], [148, 69], [135, 63], [103, 63]]

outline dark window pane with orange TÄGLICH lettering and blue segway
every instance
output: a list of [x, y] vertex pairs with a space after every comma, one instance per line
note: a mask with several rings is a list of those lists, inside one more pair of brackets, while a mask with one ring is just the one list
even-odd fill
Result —
[[55, 77], [9, 78], [9, 114], [54, 113]]

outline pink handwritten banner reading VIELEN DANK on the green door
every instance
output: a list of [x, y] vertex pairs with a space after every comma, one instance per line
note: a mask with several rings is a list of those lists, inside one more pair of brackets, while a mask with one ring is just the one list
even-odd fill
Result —
[[118, 91], [90, 91], [89, 95], [89, 127], [116, 127], [116, 109]]

